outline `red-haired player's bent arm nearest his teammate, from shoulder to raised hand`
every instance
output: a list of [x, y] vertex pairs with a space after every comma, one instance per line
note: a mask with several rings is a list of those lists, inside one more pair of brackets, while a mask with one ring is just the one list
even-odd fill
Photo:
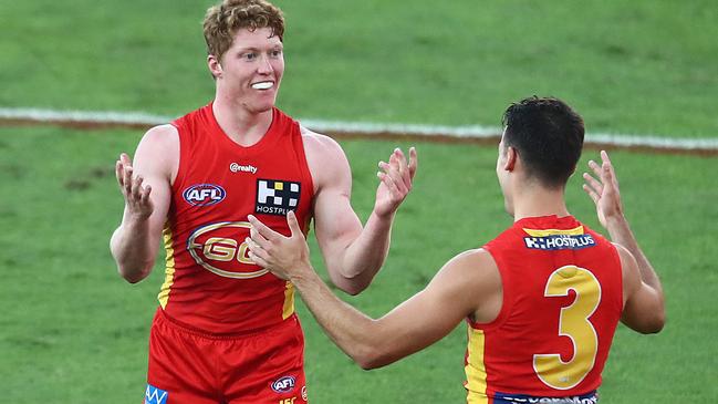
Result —
[[407, 164], [400, 151], [379, 163], [381, 179], [370, 218], [362, 222], [351, 206], [352, 173], [333, 139], [304, 133], [308, 163], [315, 182], [314, 230], [332, 282], [347, 293], [364, 290], [379, 270], [389, 248], [392, 224], [412, 187], [416, 153]]

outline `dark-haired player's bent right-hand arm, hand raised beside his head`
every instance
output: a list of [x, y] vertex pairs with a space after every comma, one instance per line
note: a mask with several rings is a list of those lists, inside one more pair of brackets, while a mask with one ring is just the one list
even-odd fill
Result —
[[596, 204], [599, 220], [608, 230], [611, 240], [622, 247], [618, 248], [624, 272], [622, 321], [638, 332], [658, 332], [665, 324], [663, 287], [623, 214], [618, 179], [608, 154], [602, 151], [601, 159], [601, 165], [589, 162], [595, 178], [584, 173], [583, 189]]

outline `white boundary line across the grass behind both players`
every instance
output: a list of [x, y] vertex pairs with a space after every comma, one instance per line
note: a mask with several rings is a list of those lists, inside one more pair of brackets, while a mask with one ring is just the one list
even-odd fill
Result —
[[[159, 125], [175, 117], [144, 112], [92, 112], [56, 111], [39, 108], [0, 107], [0, 120], [37, 121], [42, 123], [76, 122], [91, 124]], [[498, 126], [440, 126], [416, 124], [362, 123], [322, 120], [300, 120], [303, 126], [316, 132], [341, 132], [372, 135], [448, 136], [456, 138], [491, 138], [501, 133]], [[684, 151], [717, 151], [718, 138], [674, 138], [656, 135], [621, 133], [587, 133], [587, 144], [605, 144], [626, 147], [674, 148]]]

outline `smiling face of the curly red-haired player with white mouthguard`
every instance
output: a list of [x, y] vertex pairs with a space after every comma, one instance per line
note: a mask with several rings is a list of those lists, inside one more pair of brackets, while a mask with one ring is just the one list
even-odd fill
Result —
[[249, 113], [271, 110], [284, 73], [282, 41], [270, 28], [242, 28], [219, 59], [207, 56], [217, 80], [217, 97], [231, 101]]

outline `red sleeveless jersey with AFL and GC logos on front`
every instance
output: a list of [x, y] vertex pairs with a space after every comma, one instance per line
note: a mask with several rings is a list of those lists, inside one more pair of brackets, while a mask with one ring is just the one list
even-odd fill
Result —
[[164, 230], [167, 253], [159, 304], [170, 319], [210, 333], [242, 333], [294, 312], [294, 291], [248, 257], [248, 215], [285, 236], [294, 210], [306, 234], [312, 177], [299, 124], [278, 108], [254, 145], [220, 128], [212, 104], [173, 125], [179, 168]]

